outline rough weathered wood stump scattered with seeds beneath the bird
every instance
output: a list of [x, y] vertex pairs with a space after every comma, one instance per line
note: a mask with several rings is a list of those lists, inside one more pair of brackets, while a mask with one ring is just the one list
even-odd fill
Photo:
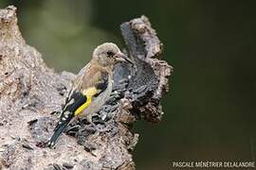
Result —
[[96, 130], [82, 120], [70, 125], [55, 149], [41, 147], [58, 120], [75, 75], [54, 73], [41, 54], [26, 44], [16, 8], [0, 10], [0, 169], [135, 169], [131, 151], [139, 118], [160, 120], [159, 99], [168, 91], [172, 67], [158, 57], [162, 44], [144, 16], [121, 25], [136, 67], [119, 64], [115, 89], [95, 113]]

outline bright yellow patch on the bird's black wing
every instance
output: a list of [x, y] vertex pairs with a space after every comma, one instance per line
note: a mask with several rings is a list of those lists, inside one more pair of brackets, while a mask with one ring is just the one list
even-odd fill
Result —
[[97, 89], [95, 87], [88, 88], [85, 91], [82, 91], [82, 94], [86, 96], [86, 102], [81, 105], [76, 111], [75, 115], [79, 115], [82, 110], [85, 110], [92, 102], [92, 97], [98, 93]]

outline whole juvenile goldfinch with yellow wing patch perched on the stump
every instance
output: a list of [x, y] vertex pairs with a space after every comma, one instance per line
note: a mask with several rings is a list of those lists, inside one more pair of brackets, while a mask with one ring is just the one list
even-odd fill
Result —
[[56, 144], [67, 125], [76, 118], [86, 116], [91, 122], [91, 114], [99, 111], [110, 96], [114, 65], [119, 61], [133, 64], [115, 43], [106, 42], [94, 50], [92, 59], [82, 68], [65, 99], [61, 118], [48, 142], [49, 147]]

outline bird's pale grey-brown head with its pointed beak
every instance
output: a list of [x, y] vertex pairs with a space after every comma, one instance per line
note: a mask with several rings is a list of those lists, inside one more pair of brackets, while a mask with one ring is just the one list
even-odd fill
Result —
[[120, 50], [118, 45], [112, 42], [105, 42], [99, 45], [93, 52], [93, 59], [101, 66], [113, 66], [120, 61], [127, 61], [134, 64]]

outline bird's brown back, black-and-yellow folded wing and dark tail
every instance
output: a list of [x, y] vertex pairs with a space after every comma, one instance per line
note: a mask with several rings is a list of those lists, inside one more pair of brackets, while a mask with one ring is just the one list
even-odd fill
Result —
[[87, 69], [82, 69], [82, 71], [84, 73], [80, 73], [76, 78], [71, 91], [65, 99], [60, 121], [49, 141], [50, 147], [56, 143], [69, 122], [91, 104], [92, 98], [97, 97], [107, 89], [109, 74], [106, 70], [89, 65]]

